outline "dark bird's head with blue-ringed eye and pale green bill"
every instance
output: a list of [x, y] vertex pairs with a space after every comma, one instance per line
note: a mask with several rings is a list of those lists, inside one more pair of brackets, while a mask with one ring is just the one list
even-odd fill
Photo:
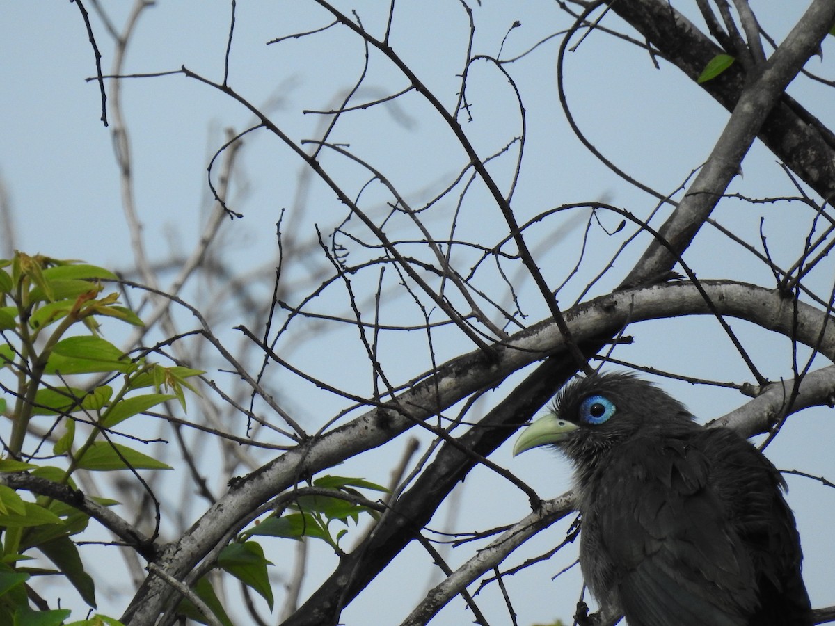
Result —
[[681, 402], [628, 373], [571, 381], [550, 409], [525, 428], [516, 440], [514, 456], [552, 445], [571, 461], [584, 464], [640, 432], [692, 419]]

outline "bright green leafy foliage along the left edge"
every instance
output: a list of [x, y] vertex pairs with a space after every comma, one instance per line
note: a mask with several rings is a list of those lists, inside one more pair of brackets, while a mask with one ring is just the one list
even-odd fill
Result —
[[[76, 488], [73, 473], [79, 470], [170, 469], [134, 447], [114, 442], [112, 429], [129, 419], [142, 419], [145, 411], [165, 401], [177, 400], [185, 410], [184, 390], [195, 391], [188, 379], [203, 372], [132, 358], [101, 336], [99, 321], [104, 318], [142, 326], [133, 311], [119, 305], [117, 293], [105, 293], [102, 280], [115, 279], [104, 268], [43, 255], [18, 252], [13, 259], [0, 260], [0, 375], [12, 381], [4, 382], [8, 396], [0, 397], [0, 411], [12, 424], [0, 475], [28, 472]], [[97, 375], [98, 382], [67, 384], [67, 376], [83, 381], [88, 374]], [[63, 463], [39, 465], [28, 457], [27, 433], [40, 416], [48, 416], [51, 427], [57, 427], [53, 454]], [[87, 426], [79, 427], [77, 421]], [[97, 501], [104, 506], [115, 503]], [[88, 523], [86, 513], [68, 504], [44, 496], [30, 500], [0, 484], [0, 623], [58, 626], [68, 618], [68, 610], [30, 608], [26, 584], [33, 576], [61, 576], [95, 607], [94, 580], [73, 542]], [[55, 569], [26, 567], [28, 551], [37, 551]], [[95, 615], [73, 622], [82, 624], [119, 626], [119, 621]]]

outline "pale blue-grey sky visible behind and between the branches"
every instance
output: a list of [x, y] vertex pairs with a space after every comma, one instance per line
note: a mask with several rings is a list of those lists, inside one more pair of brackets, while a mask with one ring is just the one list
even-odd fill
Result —
[[[471, 4], [477, 25], [473, 49], [489, 56], [498, 55], [501, 50], [502, 58], [513, 58], [529, 50], [533, 43], [544, 41], [570, 25], [557, 3], [544, 0], [524, 3], [483, 0], [480, 5]], [[691, 3], [674, 4], [696, 19]], [[807, 5], [773, 0], [751, 4], [762, 18], [763, 28], [778, 41]], [[131, 3], [101, 0], [101, 6], [120, 28]], [[337, 6], [356, 8], [366, 28], [382, 33], [387, 16], [380, 9], [384, 3], [356, 0]], [[458, 96], [458, 74], [466, 53], [467, 14], [460, 3], [451, 0], [410, 0], [398, 2], [396, 6], [392, 47], [438, 93], [442, 102], [451, 107]], [[104, 72], [109, 73], [113, 63], [112, 39], [92, 3], [87, 3], [87, 8], [103, 54]], [[0, 24], [4, 58], [0, 63], [0, 79], [4, 85], [0, 90], [3, 112], [0, 180], [13, 215], [14, 246], [30, 254], [83, 258], [96, 265], [129, 270], [134, 256], [122, 210], [119, 169], [110, 129], [99, 119], [99, 87], [94, 81], [85, 80], [95, 74], [94, 54], [78, 8], [66, 2], [11, 3], [5, 13], [6, 18]], [[159, 0], [139, 20], [124, 73], [159, 73], [185, 66], [220, 82], [225, 71], [230, 13], [230, 3], [220, 0]], [[288, 38], [267, 45], [276, 38], [329, 23], [321, 8], [302, 0], [237, 3], [235, 17], [230, 87], [256, 106], [267, 109], [291, 139], [321, 135], [325, 118], [303, 112], [334, 108], [357, 81], [364, 60], [364, 50], [357, 38], [346, 29], [331, 28], [310, 37]], [[519, 26], [511, 28], [517, 21]], [[630, 32], [612, 15], [606, 16], [602, 23]], [[552, 38], [519, 61], [504, 66], [524, 96], [528, 127], [524, 167], [514, 193], [514, 210], [519, 221], [559, 204], [594, 200], [644, 215], [654, 200], [598, 163], [579, 145], [566, 124], [556, 88], [558, 46], [559, 38]], [[833, 55], [835, 50], [829, 41], [822, 58], [813, 58], [807, 68], [832, 80], [835, 78]], [[564, 80], [572, 113], [590, 141], [630, 175], [664, 193], [677, 189], [706, 159], [728, 118], [724, 109], [676, 68], [663, 61], [660, 68], [653, 68], [645, 52], [600, 33], [592, 33], [575, 52], [567, 55]], [[110, 90], [113, 83], [105, 86]], [[367, 79], [355, 101], [380, 98], [406, 87], [407, 83], [390, 63], [372, 55]], [[224, 129], [240, 132], [248, 128], [253, 124], [252, 114], [218, 90], [183, 75], [130, 78], [121, 83], [121, 90], [133, 154], [134, 200], [143, 223], [144, 245], [152, 260], [180, 258], [200, 239], [208, 214], [206, 207], [210, 206], [206, 168], [212, 154], [225, 140]], [[830, 88], [811, 81], [797, 81], [790, 93], [820, 116], [829, 128], [835, 126]], [[465, 124], [466, 132], [479, 154], [499, 154], [488, 166], [501, 184], [509, 185], [518, 149], [518, 143], [514, 144], [513, 140], [521, 129], [514, 91], [493, 65], [477, 62], [470, 68], [466, 95], [473, 115], [473, 120]], [[349, 144], [354, 154], [373, 159], [374, 164], [384, 167], [384, 174], [392, 184], [405, 190], [407, 198], [416, 204], [428, 198], [433, 190], [437, 193], [443, 181], [454, 177], [464, 163], [463, 154], [448, 129], [439, 124], [433, 112], [414, 93], [385, 107], [347, 116], [331, 139]], [[364, 194], [362, 197], [369, 204], [378, 199], [382, 206], [385, 194], [374, 186], [363, 189], [368, 175], [357, 164], [340, 158], [336, 151], [326, 151], [321, 160], [349, 194]], [[292, 213], [302, 172], [297, 157], [276, 138], [261, 131], [245, 137], [231, 194], [235, 210], [244, 217], [224, 220], [221, 241], [225, 247], [218, 253], [238, 275], [260, 275], [275, 265], [276, 221], [282, 209], [289, 208], [284, 220], [286, 225], [292, 225], [293, 236], [299, 241], [315, 240], [316, 226], [329, 233], [345, 217], [344, 208], [335, 201], [333, 193], [315, 180], [307, 188], [306, 205], [311, 209], [301, 215]], [[216, 182], [216, 171], [213, 175]], [[773, 154], [761, 144], [756, 144], [746, 157], [742, 175], [735, 179], [731, 191], [760, 198], [796, 193]], [[444, 210], [453, 210], [453, 200], [448, 199], [447, 204]], [[469, 192], [463, 208], [458, 232], [486, 245], [498, 240], [506, 230], [483, 191]], [[767, 236], [769, 250], [783, 265], [791, 265], [791, 260], [801, 252], [804, 229], [809, 228], [808, 215], [801, 213], [799, 217], [798, 211], [792, 204], [763, 207], [727, 199], [716, 217], [723, 225], [755, 241], [759, 240], [760, 220], [764, 218], [763, 234]], [[446, 232], [446, 215], [427, 215], [433, 233], [441, 236]], [[541, 260], [545, 275], [554, 284], [569, 275], [577, 258], [577, 235], [585, 220], [583, 215], [579, 218], [577, 215], [574, 212], [554, 218], [530, 232], [529, 244], [539, 254], [538, 262]], [[665, 215], [664, 210], [661, 215]], [[601, 220], [609, 228], [618, 222], [614, 216], [603, 216]], [[395, 224], [393, 220], [392, 224], [403, 232], [411, 228], [407, 223]], [[4, 245], [12, 239], [8, 233], [5, 235]], [[728, 261], [723, 254], [726, 246], [724, 238], [706, 230], [688, 251], [688, 261], [700, 277], [727, 275]], [[600, 269], [600, 264], [614, 253], [615, 245], [597, 230], [592, 233], [589, 249], [590, 257], [598, 261], [585, 264], [584, 272], [569, 281], [560, 293], [561, 302], [571, 302], [580, 295], [595, 268]], [[640, 250], [641, 245], [627, 250], [615, 270], [595, 286], [593, 295], [614, 286]], [[355, 259], [364, 253], [358, 249], [351, 252]], [[2, 253], [7, 255], [8, 250]], [[468, 256], [469, 253], [461, 254], [461, 266], [468, 266], [476, 259]], [[772, 285], [772, 278], [760, 264], [744, 255], [734, 259], [732, 277]], [[316, 268], [293, 259], [286, 261], [285, 269], [288, 281], [303, 282], [316, 275]], [[816, 285], [826, 289], [831, 275], [832, 265], [822, 265], [822, 270], [810, 280], [819, 280]], [[170, 279], [170, 275], [163, 276], [165, 280]], [[478, 280], [483, 280], [485, 289], [496, 288], [495, 273], [484, 270], [483, 276]], [[253, 293], [262, 298], [269, 296], [256, 286]], [[186, 294], [200, 295], [188, 291]], [[523, 290], [520, 296], [529, 322], [547, 315], [532, 290]], [[327, 306], [331, 300], [323, 302]], [[391, 306], [392, 315], [416, 315], [413, 308], [398, 308], [401, 305], [395, 303]], [[227, 331], [231, 326], [233, 321], [228, 321]], [[763, 336], [762, 331], [741, 322], [733, 326], [740, 331], [767, 376], [779, 378], [790, 373], [787, 341], [773, 341]], [[651, 327], [630, 328], [630, 334], [635, 336], [636, 346], [628, 358], [636, 362], [661, 370], [683, 370], [690, 376], [713, 380], [745, 380], [746, 371], [729, 351], [726, 338], [714, 322], [688, 320], [682, 326], [680, 320], [660, 321]], [[460, 337], [442, 336], [449, 337], [449, 341], [437, 346], [442, 361], [472, 347]], [[358, 371], [351, 371], [353, 368], [347, 366], [350, 361], [347, 352], [342, 352], [348, 350], [342, 342], [351, 340], [338, 335], [337, 339], [332, 337], [313, 336], [304, 349], [292, 342], [282, 347], [297, 365], [314, 369], [325, 380], [342, 381], [348, 376], [347, 385], [366, 389], [367, 367], [357, 368], [362, 370], [362, 376]], [[354, 344], [351, 350], [356, 349]], [[334, 353], [339, 358], [332, 358]], [[386, 359], [388, 371], [396, 381], [406, 381], [428, 369], [425, 346], [414, 337], [383, 346], [382, 358]], [[351, 376], [357, 376], [357, 381]], [[281, 377], [276, 378], [275, 384], [285, 388]], [[685, 401], [703, 420], [720, 416], [743, 401], [733, 392], [686, 383], [665, 382], [665, 388]], [[322, 415], [332, 416], [344, 407], [342, 399], [306, 388], [295, 396], [287, 391], [286, 401], [308, 425], [315, 425]], [[793, 419], [792, 427], [768, 448], [769, 457], [777, 467], [802, 469], [831, 478], [835, 462], [827, 443], [831, 441], [830, 422], [830, 412], [825, 409], [806, 411]], [[353, 460], [347, 467], [362, 472], [357, 475], [385, 482], [387, 468], [396, 456], [397, 451], [381, 450], [367, 459]], [[493, 460], [512, 468], [543, 497], [556, 497], [569, 487], [569, 467], [548, 452], [530, 452], [514, 460], [506, 446], [496, 452]], [[832, 490], [810, 481], [789, 477], [788, 482], [789, 498], [797, 512], [806, 546], [805, 572], [812, 603], [832, 604], [835, 600], [831, 595], [831, 563], [835, 554], [827, 528], [822, 528], [820, 520], [832, 519], [835, 497]], [[526, 506], [524, 494], [507, 484], [497, 484], [491, 472], [481, 468], [468, 477], [453, 498], [453, 505], [439, 512], [432, 525], [458, 530], [491, 528], [524, 517]], [[542, 533], [518, 554], [514, 553], [509, 564], [547, 551], [559, 543], [566, 528], [567, 522]], [[452, 550], [448, 555], [450, 563], [457, 564], [468, 554]], [[519, 623], [569, 617], [568, 610], [573, 608], [579, 593], [579, 572], [574, 568], [556, 582], [551, 577], [567, 567], [574, 554], [559, 553], [549, 562], [509, 578], [511, 597], [518, 602], [515, 608]], [[317, 569], [312, 578], [317, 574], [326, 575], [333, 565], [332, 555], [321, 546], [314, 548], [314, 555]], [[409, 548], [397, 558], [391, 573], [373, 583], [347, 609], [345, 623], [372, 623], [368, 615], [380, 614], [387, 616], [385, 623], [397, 623], [405, 618], [417, 598], [422, 597], [427, 585], [437, 582], [437, 572], [433, 572], [427, 556], [417, 548]], [[391, 593], [391, 589], [397, 589], [397, 593]], [[491, 593], [483, 593], [479, 599], [496, 616], [492, 623], [509, 623], [506, 613], [502, 613], [500, 594], [494, 585], [491, 589]], [[113, 588], [109, 591], [114, 596], [104, 594], [100, 609], [118, 614], [124, 598]], [[462, 612], [461, 603], [452, 603], [433, 623], [468, 621], [468, 614], [464, 616]], [[388, 619], [392, 615], [396, 617]]]

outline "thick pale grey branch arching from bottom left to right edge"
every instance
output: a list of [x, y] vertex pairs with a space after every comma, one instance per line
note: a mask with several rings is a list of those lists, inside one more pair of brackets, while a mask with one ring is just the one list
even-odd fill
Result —
[[[705, 282], [702, 287], [722, 314], [752, 321], [785, 336], [793, 333], [797, 341], [817, 346], [828, 358], [835, 356], [835, 324], [827, 325], [821, 311], [799, 303], [794, 321], [792, 300], [777, 291], [731, 282]], [[709, 313], [694, 285], [674, 283], [624, 290], [591, 300], [565, 311], [565, 321], [576, 341], [593, 341], [611, 336], [631, 322]], [[381, 446], [416, 422], [564, 349], [563, 336], [554, 322], [544, 321], [493, 346], [494, 358], [479, 350], [448, 361], [438, 371], [421, 376], [392, 401], [373, 407], [241, 478], [179, 541], [166, 548], [157, 564], [174, 578], [182, 579], [215, 547], [227, 529], [251, 519], [258, 506], [303, 477]], [[150, 626], [170, 598], [170, 588], [159, 578], [146, 578], [122, 621], [129, 626]]]

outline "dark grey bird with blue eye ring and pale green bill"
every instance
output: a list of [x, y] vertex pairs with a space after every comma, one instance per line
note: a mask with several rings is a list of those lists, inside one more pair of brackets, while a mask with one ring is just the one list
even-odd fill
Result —
[[630, 372], [569, 382], [519, 436], [574, 468], [579, 563], [600, 615], [629, 626], [807, 626], [786, 482], [744, 437], [704, 427]]

